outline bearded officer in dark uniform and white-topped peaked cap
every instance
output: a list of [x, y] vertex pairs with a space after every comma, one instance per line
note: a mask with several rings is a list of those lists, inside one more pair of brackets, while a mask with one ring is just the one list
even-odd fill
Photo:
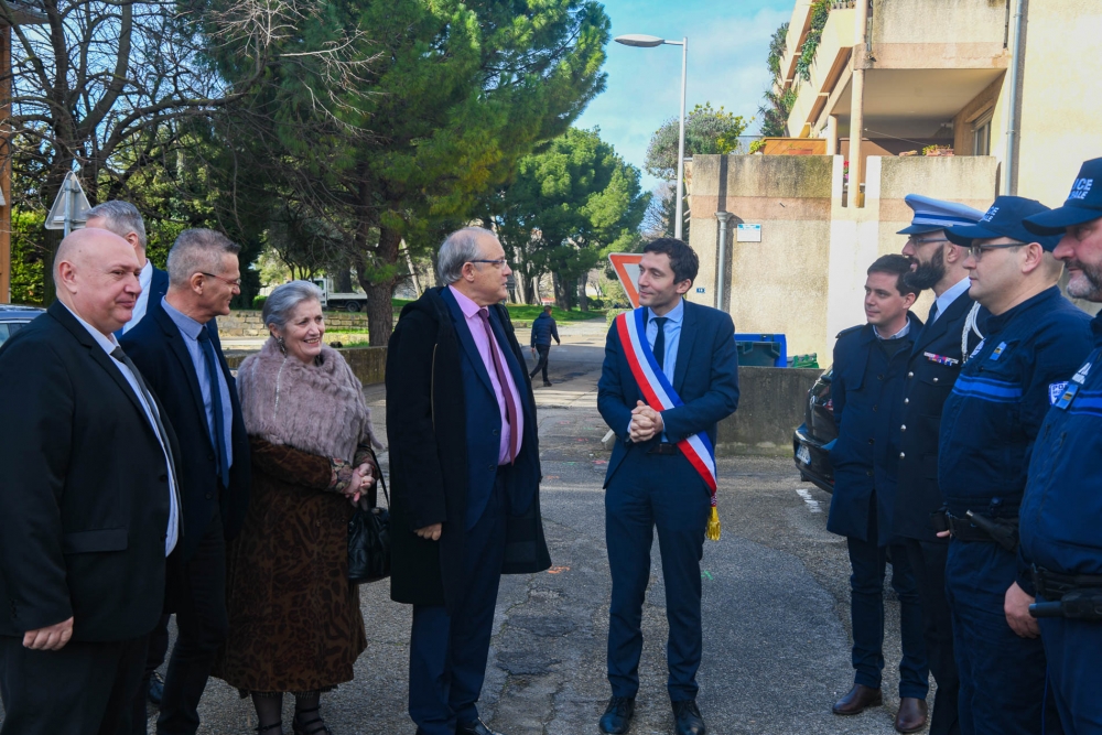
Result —
[[[975, 224], [983, 213], [955, 202], [908, 194], [915, 210], [903, 255], [910, 259], [907, 283], [934, 295], [926, 326], [915, 338], [904, 380], [899, 431], [899, 485], [893, 529], [901, 538], [921, 599], [926, 660], [938, 682], [930, 735], [958, 735], [960, 679], [953, 658], [953, 626], [946, 599], [949, 539], [939, 539], [930, 516], [942, 505], [938, 487], [938, 432], [941, 409], [953, 389], [964, 356], [979, 344], [981, 313], [968, 294], [968, 250], [946, 237], [946, 228]], [[982, 322], [982, 321], [981, 321]]]

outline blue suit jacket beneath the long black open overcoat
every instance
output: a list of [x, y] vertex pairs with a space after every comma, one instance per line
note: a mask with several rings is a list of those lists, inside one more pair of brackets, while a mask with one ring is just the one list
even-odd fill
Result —
[[[461, 370], [463, 374], [463, 397], [466, 406], [467, 436], [467, 517], [466, 526], [472, 528], [486, 509], [486, 502], [494, 491], [494, 480], [497, 477], [497, 460], [501, 447], [501, 411], [497, 397], [489, 380], [489, 372], [483, 364], [478, 347], [475, 345], [466, 317], [458, 302], [449, 289], [441, 291], [444, 303], [447, 304], [452, 324], [460, 341], [460, 352], [463, 355]], [[539, 450], [536, 436], [536, 408], [529, 400], [528, 374], [520, 358], [512, 350], [505, 336], [500, 318], [495, 309], [489, 310], [490, 327], [501, 353], [509, 365], [512, 380], [517, 383], [520, 396], [520, 408], [525, 415], [525, 436], [520, 444], [520, 455], [514, 461], [514, 472], [510, 475], [509, 499], [512, 515], [525, 512], [536, 496], [539, 487], [540, 466]]]

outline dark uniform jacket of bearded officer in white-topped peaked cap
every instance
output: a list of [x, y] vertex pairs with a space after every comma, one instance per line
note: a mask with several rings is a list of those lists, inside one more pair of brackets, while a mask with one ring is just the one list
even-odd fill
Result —
[[[910, 350], [897, 426], [900, 456], [893, 516], [895, 536], [941, 541], [930, 523], [930, 514], [943, 502], [938, 487], [941, 410], [964, 365], [961, 335], [974, 303], [968, 293], [957, 296], [939, 318], [922, 327]], [[981, 315], [982, 332], [986, 311], [981, 310]], [[979, 342], [975, 332], [969, 329], [968, 352]]]

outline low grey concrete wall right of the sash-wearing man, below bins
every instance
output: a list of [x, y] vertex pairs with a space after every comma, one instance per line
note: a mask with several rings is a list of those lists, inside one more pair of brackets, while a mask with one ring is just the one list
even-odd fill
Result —
[[808, 390], [822, 370], [738, 368], [738, 410], [720, 422], [716, 454], [792, 454], [792, 432], [803, 423]]

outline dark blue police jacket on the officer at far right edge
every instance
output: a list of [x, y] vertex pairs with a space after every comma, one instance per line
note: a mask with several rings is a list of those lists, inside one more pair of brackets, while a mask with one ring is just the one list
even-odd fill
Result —
[[1054, 572], [1102, 574], [1102, 316], [1094, 352], [1049, 409], [1022, 500], [1022, 551]]

